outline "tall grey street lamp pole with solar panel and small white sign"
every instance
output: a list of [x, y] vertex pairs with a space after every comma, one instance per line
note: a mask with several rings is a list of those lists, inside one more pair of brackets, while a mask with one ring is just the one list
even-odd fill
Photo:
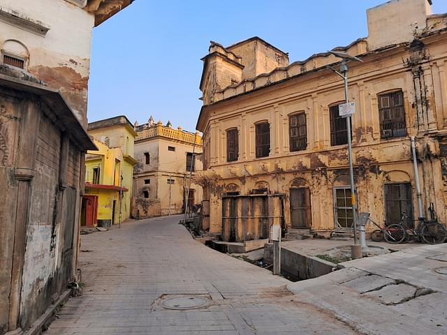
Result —
[[[357, 57], [351, 56], [346, 52], [339, 51], [330, 51], [330, 54], [333, 54], [335, 57], [341, 58], [342, 63], [340, 64], [339, 71], [332, 68], [332, 66], [328, 66], [332, 71], [337, 73], [344, 80], [344, 98], [346, 101], [346, 110], [348, 110], [346, 114], [346, 130], [348, 133], [348, 154], [349, 154], [349, 179], [351, 180], [351, 204], [352, 204], [352, 214], [353, 214], [353, 228], [354, 228], [354, 245], [351, 246], [351, 255], [353, 258], [361, 258], [362, 257], [362, 247], [365, 246], [358, 244], [357, 239], [357, 201], [356, 201], [356, 185], [354, 184], [354, 171], [352, 166], [352, 141], [351, 141], [351, 114], [353, 114], [354, 109], [349, 110], [349, 96], [348, 96], [348, 64], [347, 61], [362, 61]], [[365, 232], [363, 231], [363, 234]], [[360, 237], [360, 241], [365, 241], [364, 237]]]

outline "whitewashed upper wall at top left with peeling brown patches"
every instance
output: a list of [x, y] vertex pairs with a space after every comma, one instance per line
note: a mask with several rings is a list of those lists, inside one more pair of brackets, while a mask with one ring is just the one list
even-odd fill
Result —
[[6, 40], [17, 40], [27, 47], [29, 72], [49, 87], [61, 90], [81, 124], [87, 126], [87, 82], [94, 15], [63, 0], [3, 0], [1, 6], [50, 27], [47, 34], [41, 36], [0, 21], [0, 46]]

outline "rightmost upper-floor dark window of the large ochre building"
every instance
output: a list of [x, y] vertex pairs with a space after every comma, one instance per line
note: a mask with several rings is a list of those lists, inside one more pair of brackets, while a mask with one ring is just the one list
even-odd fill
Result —
[[406, 136], [402, 91], [379, 95], [379, 119], [382, 139]]

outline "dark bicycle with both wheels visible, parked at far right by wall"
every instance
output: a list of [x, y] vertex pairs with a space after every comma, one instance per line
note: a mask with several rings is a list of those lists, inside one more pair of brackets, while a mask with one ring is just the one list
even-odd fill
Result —
[[403, 212], [400, 223], [388, 225], [383, 228], [383, 237], [385, 238], [385, 241], [390, 244], [399, 244], [412, 237], [413, 239], [418, 239], [427, 244], [443, 243], [447, 239], [447, 230], [444, 225], [441, 225], [441, 223], [437, 222], [435, 219], [433, 208], [430, 208], [430, 214], [432, 220], [428, 221], [425, 218], [420, 218], [418, 226], [412, 228], [406, 224], [409, 217]]

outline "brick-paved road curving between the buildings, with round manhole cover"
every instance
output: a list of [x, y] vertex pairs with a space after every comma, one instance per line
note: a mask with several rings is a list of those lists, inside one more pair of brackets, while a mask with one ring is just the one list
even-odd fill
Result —
[[[45, 334], [358, 334], [295, 301], [284, 278], [193, 240], [178, 220], [82, 235], [83, 295]], [[163, 308], [170, 297], [202, 297], [209, 306]]]

